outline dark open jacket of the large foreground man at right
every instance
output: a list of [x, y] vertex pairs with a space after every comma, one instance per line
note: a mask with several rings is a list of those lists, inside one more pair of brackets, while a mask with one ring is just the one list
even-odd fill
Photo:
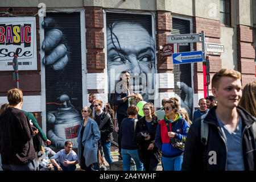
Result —
[[[191, 125], [185, 144], [182, 170], [225, 171], [226, 143], [221, 138], [221, 131], [216, 118], [216, 108], [217, 106], [212, 107], [204, 119], [209, 126], [206, 147], [200, 141], [201, 119], [196, 119]], [[240, 106], [237, 107], [237, 111], [242, 119], [242, 148], [245, 170], [253, 171], [256, 164], [256, 147], [251, 125], [256, 122], [256, 118]], [[210, 151], [216, 152], [217, 164], [209, 164], [209, 158], [212, 156], [209, 155]]]

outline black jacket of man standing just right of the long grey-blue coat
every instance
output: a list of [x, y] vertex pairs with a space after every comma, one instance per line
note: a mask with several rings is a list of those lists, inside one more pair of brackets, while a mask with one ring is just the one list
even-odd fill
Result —
[[[97, 122], [97, 125], [100, 126], [100, 123], [104, 120], [105, 115], [107, 112], [103, 112], [100, 117], [97, 119], [97, 114], [94, 115], [94, 120]], [[105, 125], [100, 129], [101, 132], [101, 139], [100, 141], [102, 143], [111, 142], [113, 138], [113, 131], [114, 131], [114, 124], [112, 121], [112, 118], [110, 117], [108, 121], [105, 123]]]

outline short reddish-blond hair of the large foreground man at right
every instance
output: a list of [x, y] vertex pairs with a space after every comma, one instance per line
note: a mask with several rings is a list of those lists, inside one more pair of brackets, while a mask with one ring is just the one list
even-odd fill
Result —
[[212, 88], [218, 88], [218, 82], [221, 77], [228, 76], [237, 78], [237, 80], [241, 80], [241, 73], [234, 69], [221, 69], [217, 73], [215, 73], [212, 77]]

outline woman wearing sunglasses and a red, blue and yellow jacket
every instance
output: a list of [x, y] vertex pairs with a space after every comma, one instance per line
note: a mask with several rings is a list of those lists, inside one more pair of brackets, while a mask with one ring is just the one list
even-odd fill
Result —
[[189, 125], [181, 118], [179, 100], [171, 97], [164, 102], [164, 119], [156, 129], [155, 144], [162, 152], [164, 171], [180, 171], [183, 163], [184, 144]]

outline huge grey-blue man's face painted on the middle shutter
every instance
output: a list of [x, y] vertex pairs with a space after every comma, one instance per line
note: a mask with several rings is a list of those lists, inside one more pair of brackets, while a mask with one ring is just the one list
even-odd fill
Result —
[[[154, 40], [141, 24], [115, 22], [107, 26], [107, 43], [108, 72], [114, 72], [114, 77], [109, 79], [118, 81], [122, 71], [129, 71], [131, 84], [135, 82], [134, 93], [141, 93], [143, 96], [148, 89], [154, 88]], [[149, 73], [152, 73], [151, 82], [147, 79]]]

